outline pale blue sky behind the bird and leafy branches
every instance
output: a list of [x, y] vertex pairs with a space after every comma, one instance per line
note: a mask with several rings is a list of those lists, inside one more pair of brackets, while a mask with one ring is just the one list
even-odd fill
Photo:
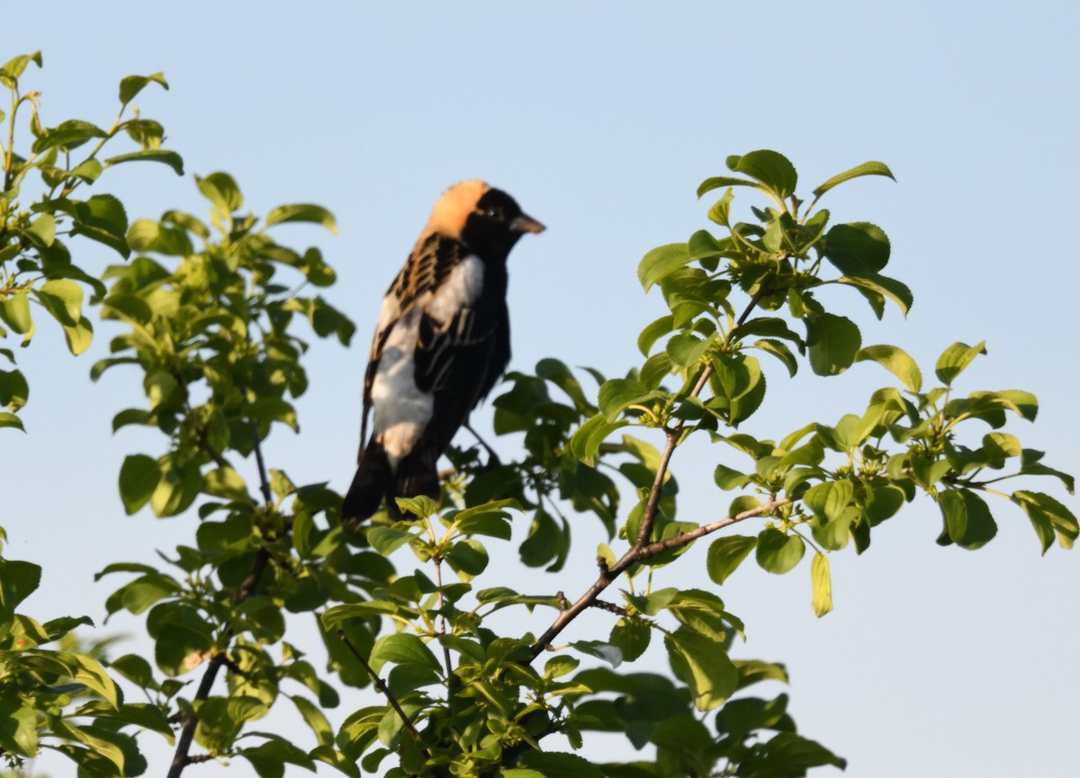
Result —
[[[359, 328], [351, 350], [314, 344], [301, 435], [278, 432], [268, 447], [271, 466], [297, 483], [348, 486], [379, 300], [449, 183], [483, 177], [549, 227], [511, 259], [512, 369], [558, 356], [613, 376], [638, 359], [637, 333], [662, 308], [656, 292], [640, 291], [640, 257], [708, 227], [714, 199], [699, 203], [698, 183], [725, 173], [726, 155], [759, 148], [792, 159], [802, 192], [866, 160], [890, 165], [896, 183], [861, 179], [823, 204], [834, 219], [889, 233], [890, 271], [912, 287], [912, 313], [904, 320], [893, 308], [878, 323], [855, 294], [831, 299], [850, 302], [838, 305], [860, 317], [864, 344], [907, 349], [928, 380], [949, 343], [985, 338], [989, 356], [960, 388], [1035, 392], [1038, 422], [1009, 429], [1048, 451], [1048, 464], [1080, 470], [1075, 3], [2, 5], [0, 59], [43, 51], [44, 69], [31, 66], [24, 87], [42, 92], [49, 122], [107, 124], [122, 77], [165, 72], [171, 90], [150, 87], [136, 103], [165, 125], [189, 175], [134, 165], [107, 175], [100, 191], [118, 193], [131, 218], [204, 213], [190, 174], [216, 169], [237, 177], [257, 214], [286, 202], [336, 214], [337, 237], [287, 226], [278, 233], [301, 248], [318, 242], [340, 278], [327, 296]], [[740, 191], [735, 208], [746, 214], [752, 202]], [[84, 257], [92, 269], [112, 261]], [[92, 351], [72, 358], [58, 332], [41, 327], [18, 354], [31, 387], [22, 414], [29, 434], [0, 431], [5, 556], [44, 565], [24, 609], [42, 620], [85, 613], [100, 624], [123, 578], [95, 585], [93, 573], [171, 550], [198, 521], [123, 515], [123, 456], [162, 449], [131, 428], [110, 434], [111, 415], [138, 404], [140, 388], [133, 371], [90, 384], [107, 350], [108, 330], [98, 332]], [[766, 369], [770, 392], [751, 427], [764, 437], [861, 412], [892, 383], [873, 365], [829, 380], [805, 368], [794, 382], [779, 364]], [[489, 427], [488, 412], [475, 422]], [[498, 445], [512, 455], [516, 443]], [[738, 463], [707, 447], [676, 456], [679, 518], [724, 515], [730, 495], [711, 479], [719, 458]], [[1080, 508], [1056, 481], [1027, 486]], [[737, 656], [786, 663], [800, 732], [848, 757], [847, 775], [1076, 775], [1080, 558], [1056, 546], [1040, 557], [1023, 514], [991, 507], [999, 534], [976, 552], [934, 545], [940, 518], [923, 499], [875, 530], [862, 557], [833, 555], [836, 611], [823, 619], [810, 609], [809, 559], [786, 576], [750, 561], [719, 588], [747, 625]], [[588, 587], [603, 540], [596, 523], [582, 518], [576, 562], [555, 581], [528, 577], [534, 591]], [[705, 545], [660, 584], [716, 589], [703, 571]], [[523, 579], [515, 547], [516, 538], [494, 555], [507, 561], [483, 585]], [[604, 638], [610, 623], [591, 615], [569, 637]], [[517, 629], [542, 631], [550, 617]], [[106, 627], [137, 629], [120, 617]], [[642, 665], [665, 667], [657, 654]], [[297, 741], [314, 745], [305, 738]], [[605, 755], [607, 742], [589, 753], [627, 756]], [[161, 775], [166, 760], [151, 752], [148, 775]], [[41, 766], [73, 774], [64, 761]], [[192, 778], [247, 773], [245, 763], [190, 768]]]

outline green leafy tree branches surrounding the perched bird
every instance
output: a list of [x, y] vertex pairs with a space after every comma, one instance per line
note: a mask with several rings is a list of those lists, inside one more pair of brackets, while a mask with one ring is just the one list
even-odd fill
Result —
[[[192, 535], [163, 561], [119, 561], [98, 574], [118, 582], [106, 613], [143, 617], [153, 656], [103, 659], [69, 637], [89, 618], [40, 624], [18, 613], [41, 568], [0, 560], [0, 754], [11, 764], [48, 746], [82, 775], [137, 776], [151, 769], [141, 733], [175, 745], [171, 765], [152, 766], [170, 776], [206, 759], [242, 759], [265, 778], [318, 763], [350, 776], [802, 776], [843, 760], [798, 733], [785, 694], [748, 691], [786, 672], [729, 655], [743, 623], [718, 589], [677, 585], [686, 576], [675, 570], [700, 563], [684, 558], [687, 549], [705, 538], [716, 587], [752, 556], [777, 574], [804, 564], [821, 616], [833, 608], [828, 555], [864, 551], [874, 528], [920, 494], [940, 506], [943, 545], [989, 542], [991, 503], [1007, 502], [1026, 514], [1043, 551], [1077, 537], [1076, 517], [1052, 495], [1000, 491], [1017, 476], [1050, 476], [1070, 494], [1074, 481], [1004, 431], [1035, 420], [1034, 395], [958, 387], [982, 343], [949, 346], [936, 382], [924, 385], [903, 349], [864, 345], [859, 324], [831, 310], [851, 291], [879, 318], [888, 304], [906, 314], [913, 303], [886, 273], [881, 228], [816, 208], [834, 187], [891, 178], [889, 168], [853, 167], [807, 203], [795, 167], [768, 150], [728, 158], [728, 173], [701, 185], [699, 196], [720, 192], [713, 227], [642, 259], [642, 286], [667, 313], [637, 337], [638, 365], [608, 379], [549, 358], [510, 373], [494, 401], [495, 431], [521, 435], [519, 456], [482, 463], [476, 448], [453, 449], [441, 503], [401, 500], [403, 520], [381, 513], [343, 527], [327, 483], [297, 486], [264, 455], [271, 434], [299, 431], [306, 338], [348, 345], [354, 332], [315, 294], [335, 282], [321, 251], [274, 236], [289, 221], [333, 231], [333, 216], [311, 204], [245, 214], [224, 173], [195, 177], [206, 220], [170, 210], [129, 222], [112, 195], [79, 199], [117, 164], [183, 172], [162, 148], [161, 125], [131, 105], [144, 87], [167, 85], [160, 73], [124, 79], [109, 129], [81, 120], [49, 127], [39, 96], [19, 87], [30, 64], [40, 55], [0, 69], [12, 97], [0, 148], [0, 337], [28, 344], [31, 311], [44, 313], [80, 354], [93, 336], [87, 302], [121, 327], [91, 377], [119, 367], [136, 378], [145, 401], [119, 411], [112, 429], [139, 425], [161, 437], [156, 450], [117, 463], [120, 504], [186, 516]], [[27, 112], [24, 140], [16, 119]], [[137, 149], [113, 154], [124, 136]], [[735, 219], [737, 188], [752, 195], [747, 221]], [[120, 261], [98, 273], [80, 268], [77, 236]], [[13, 350], [0, 355], [12, 367], [0, 371], [0, 424], [22, 429], [29, 382]], [[766, 408], [767, 376], [837, 376], [859, 361], [877, 363], [891, 383], [854, 412], [773, 438], [740, 432]], [[716, 465], [730, 507], [705, 523], [679, 517], [672, 470], [691, 437], [744, 463]], [[241, 466], [248, 460], [254, 467]], [[571, 524], [585, 515], [608, 535], [595, 554], [571, 543]], [[552, 575], [548, 590], [518, 591], [486, 574], [492, 554], [508, 554], [514, 522], [529, 527], [519, 561]], [[597, 568], [572, 599], [557, 591], [569, 564]], [[505, 632], [508, 611], [527, 631]], [[557, 643], [576, 619], [591, 638]], [[289, 642], [298, 628], [318, 630], [325, 657]], [[670, 673], [631, 669], [653, 644]], [[373, 704], [333, 725], [340, 690], [367, 686]], [[148, 701], [129, 702], [135, 690]], [[294, 709], [310, 732], [264, 728], [275, 706]], [[575, 751], [594, 733], [618, 734], [639, 753], [590, 762]], [[556, 734], [569, 751], [548, 747]]]

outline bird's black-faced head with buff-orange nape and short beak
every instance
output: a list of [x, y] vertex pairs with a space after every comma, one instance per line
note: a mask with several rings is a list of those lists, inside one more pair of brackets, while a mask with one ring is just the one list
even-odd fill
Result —
[[484, 259], [504, 260], [526, 232], [542, 232], [517, 202], [484, 181], [455, 183], [435, 203], [426, 234], [440, 232], [461, 241]]

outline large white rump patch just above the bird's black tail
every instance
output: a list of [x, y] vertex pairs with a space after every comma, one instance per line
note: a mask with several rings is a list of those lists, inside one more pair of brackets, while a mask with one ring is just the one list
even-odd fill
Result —
[[434, 408], [434, 397], [416, 385], [420, 316], [420, 309], [414, 308], [393, 325], [372, 382], [373, 431], [391, 469], [416, 447]]

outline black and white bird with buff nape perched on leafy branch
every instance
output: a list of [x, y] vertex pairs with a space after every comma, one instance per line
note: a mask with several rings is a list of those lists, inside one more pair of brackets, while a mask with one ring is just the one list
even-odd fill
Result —
[[383, 500], [396, 517], [394, 497], [438, 497], [436, 461], [510, 361], [507, 257], [524, 233], [543, 229], [478, 180], [435, 203], [382, 299], [346, 521], [369, 518]]

